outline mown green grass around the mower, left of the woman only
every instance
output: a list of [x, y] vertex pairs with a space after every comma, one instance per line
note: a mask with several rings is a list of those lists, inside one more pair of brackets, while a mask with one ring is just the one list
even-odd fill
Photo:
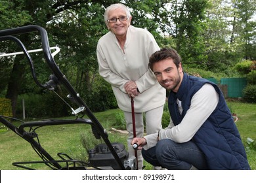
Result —
[[[122, 142], [127, 148], [127, 135], [111, 130], [117, 111], [120, 110], [98, 112], [95, 113], [95, 116], [104, 129], [108, 131], [110, 142]], [[87, 117], [85, 116], [85, 118]], [[14, 122], [14, 124], [19, 125], [20, 123]], [[41, 146], [56, 160], [60, 160], [56, 155], [59, 152], [64, 152], [73, 159], [87, 159], [87, 150], [83, 146], [84, 143], [81, 137], [84, 137], [85, 141], [88, 141], [87, 148], [93, 148], [95, 142], [100, 143], [100, 141], [92, 138], [91, 125], [87, 124], [45, 126], [37, 129], [36, 133], [39, 135]], [[101, 142], [104, 143], [103, 140]], [[32, 146], [11, 130], [2, 129], [0, 131], [0, 154], [1, 170], [21, 169], [12, 165], [13, 162], [17, 161], [41, 161], [32, 149]], [[43, 164], [30, 164], [27, 166], [33, 169], [49, 169], [49, 167]]]

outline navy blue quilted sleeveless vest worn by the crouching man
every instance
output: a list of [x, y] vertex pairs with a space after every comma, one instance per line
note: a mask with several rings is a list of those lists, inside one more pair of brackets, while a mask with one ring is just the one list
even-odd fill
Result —
[[[226, 105], [223, 93], [213, 82], [184, 73], [179, 91], [169, 94], [168, 107], [173, 123], [175, 125], [181, 123], [190, 108], [193, 95], [205, 83], [213, 85], [219, 93], [219, 103], [191, 141], [205, 154], [209, 169], [250, 169], [232, 114]], [[182, 114], [178, 110], [177, 98], [182, 101]]]

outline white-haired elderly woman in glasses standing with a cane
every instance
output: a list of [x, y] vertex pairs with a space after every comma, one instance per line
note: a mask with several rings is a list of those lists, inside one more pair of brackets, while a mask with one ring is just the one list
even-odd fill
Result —
[[[104, 20], [110, 31], [99, 39], [96, 48], [98, 71], [112, 85], [118, 107], [123, 110], [129, 132], [129, 146], [133, 139], [131, 97], [134, 99], [137, 137], [142, 137], [144, 133], [143, 113], [147, 134], [161, 129], [165, 103], [165, 89], [148, 69], [150, 56], [160, 48], [151, 33], [131, 25], [131, 18], [128, 8], [123, 4], [106, 8]], [[128, 151], [131, 156], [135, 154], [132, 147]], [[143, 159], [139, 150], [139, 169], [142, 166]]]

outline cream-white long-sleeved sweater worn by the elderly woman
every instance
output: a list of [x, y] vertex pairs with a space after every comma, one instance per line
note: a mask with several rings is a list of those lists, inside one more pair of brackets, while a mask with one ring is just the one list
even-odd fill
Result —
[[160, 50], [154, 37], [145, 29], [129, 26], [124, 52], [111, 31], [98, 41], [96, 53], [100, 75], [112, 85], [118, 107], [131, 112], [131, 99], [125, 83], [136, 82], [140, 94], [134, 99], [135, 112], [145, 112], [165, 103], [165, 89], [148, 69], [148, 61]]

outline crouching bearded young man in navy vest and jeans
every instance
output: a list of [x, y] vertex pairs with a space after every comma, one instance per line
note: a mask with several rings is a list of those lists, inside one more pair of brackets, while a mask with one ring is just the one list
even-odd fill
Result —
[[166, 169], [250, 169], [234, 120], [216, 84], [189, 76], [181, 57], [163, 48], [150, 57], [150, 69], [170, 91], [169, 127], [135, 138], [143, 158]]

